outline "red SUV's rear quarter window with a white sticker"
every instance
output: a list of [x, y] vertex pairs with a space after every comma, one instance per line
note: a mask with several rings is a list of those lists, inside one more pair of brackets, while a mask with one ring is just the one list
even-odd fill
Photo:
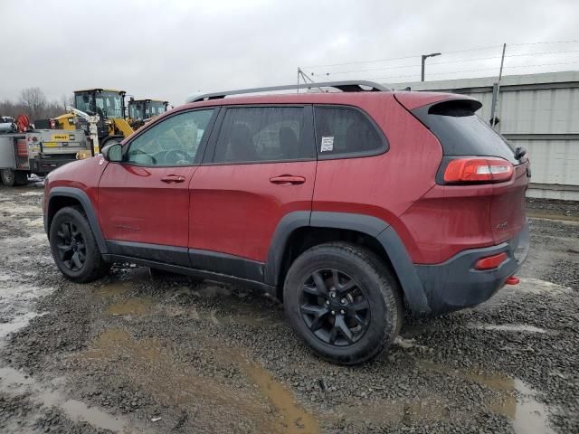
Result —
[[318, 156], [371, 153], [384, 148], [372, 123], [358, 110], [315, 108]]

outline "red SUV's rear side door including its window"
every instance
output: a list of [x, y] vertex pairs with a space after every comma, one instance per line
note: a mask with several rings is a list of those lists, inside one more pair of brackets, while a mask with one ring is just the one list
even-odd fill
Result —
[[311, 107], [230, 106], [217, 124], [191, 183], [192, 265], [261, 280], [280, 220], [311, 211]]

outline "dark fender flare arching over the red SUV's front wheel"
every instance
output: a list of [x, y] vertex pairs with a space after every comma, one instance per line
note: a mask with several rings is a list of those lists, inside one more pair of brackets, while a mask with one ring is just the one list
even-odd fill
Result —
[[56, 212], [62, 210], [62, 208], [71, 206], [79, 207], [85, 214], [87, 221], [89, 222], [90, 229], [94, 234], [95, 241], [99, 246], [100, 253], [107, 253], [107, 244], [102, 236], [102, 231], [100, 231], [99, 220], [97, 219], [97, 213], [90, 202], [87, 193], [83, 192], [80, 188], [75, 187], [53, 187], [48, 200], [48, 207], [46, 213], [46, 232], [50, 233], [50, 227], [52, 224], [52, 219]]

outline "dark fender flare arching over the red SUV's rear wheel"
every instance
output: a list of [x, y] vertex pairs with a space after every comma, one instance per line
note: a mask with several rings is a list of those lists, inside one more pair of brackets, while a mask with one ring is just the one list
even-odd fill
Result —
[[390, 263], [404, 293], [408, 307], [414, 315], [425, 315], [430, 312], [430, 307], [422, 282], [402, 240], [387, 222], [376, 217], [350, 212], [290, 212], [278, 223], [273, 234], [265, 264], [264, 280], [271, 286], [278, 285], [278, 276], [281, 270], [283, 252], [289, 236], [293, 231], [301, 227], [318, 227], [346, 229], [365, 233], [378, 241]]

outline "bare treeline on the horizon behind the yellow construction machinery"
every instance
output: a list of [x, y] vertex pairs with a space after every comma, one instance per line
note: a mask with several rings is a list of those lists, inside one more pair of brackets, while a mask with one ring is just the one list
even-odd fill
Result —
[[0, 116], [28, 115], [32, 121], [55, 118], [66, 112], [67, 105], [72, 105], [72, 97], [63, 95], [60, 100], [49, 101], [40, 88], [26, 88], [16, 101], [0, 100]]

